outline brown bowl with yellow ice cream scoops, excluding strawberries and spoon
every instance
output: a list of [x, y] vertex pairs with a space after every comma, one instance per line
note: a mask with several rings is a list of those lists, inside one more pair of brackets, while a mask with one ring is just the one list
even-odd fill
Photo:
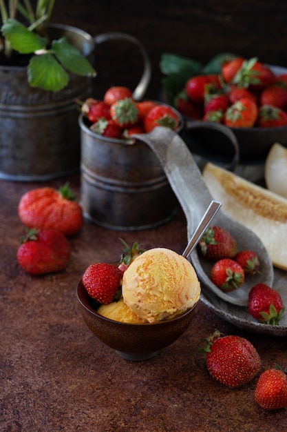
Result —
[[138, 255], [123, 272], [118, 301], [99, 304], [82, 278], [78, 302], [98, 339], [126, 360], [147, 360], [187, 330], [200, 300], [200, 282], [189, 260], [167, 248]]

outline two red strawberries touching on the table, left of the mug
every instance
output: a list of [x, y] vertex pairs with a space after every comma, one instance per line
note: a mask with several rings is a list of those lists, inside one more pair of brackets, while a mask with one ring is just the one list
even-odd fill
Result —
[[69, 185], [59, 190], [50, 187], [29, 190], [20, 199], [18, 214], [27, 227], [17, 251], [17, 261], [23, 270], [31, 275], [62, 271], [71, 256], [67, 237], [76, 234], [83, 225], [82, 208]]

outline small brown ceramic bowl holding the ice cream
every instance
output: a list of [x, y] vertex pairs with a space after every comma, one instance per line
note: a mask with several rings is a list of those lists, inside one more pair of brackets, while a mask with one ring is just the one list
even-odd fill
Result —
[[83, 282], [77, 288], [83, 319], [92, 333], [126, 360], [148, 360], [157, 351], [175, 342], [191, 324], [195, 306], [173, 318], [156, 324], [126, 324], [97, 313], [99, 304], [89, 297]]

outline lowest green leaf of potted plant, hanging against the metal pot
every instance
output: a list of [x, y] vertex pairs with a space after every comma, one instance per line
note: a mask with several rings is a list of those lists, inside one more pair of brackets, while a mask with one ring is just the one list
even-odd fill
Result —
[[48, 52], [32, 57], [28, 65], [28, 81], [32, 87], [56, 92], [67, 86], [69, 75]]

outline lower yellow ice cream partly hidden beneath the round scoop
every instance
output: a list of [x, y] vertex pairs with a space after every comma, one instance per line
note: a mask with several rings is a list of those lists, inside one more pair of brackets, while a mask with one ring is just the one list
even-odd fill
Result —
[[143, 324], [147, 322], [131, 311], [129, 306], [123, 302], [123, 297], [118, 302], [102, 304], [97, 312], [109, 318], [109, 320], [127, 322], [129, 324]]

